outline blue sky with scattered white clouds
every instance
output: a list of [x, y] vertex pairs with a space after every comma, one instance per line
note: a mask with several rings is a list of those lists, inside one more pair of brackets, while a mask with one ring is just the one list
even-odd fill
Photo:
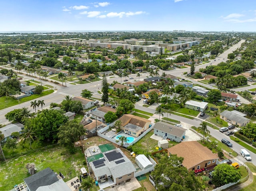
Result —
[[0, 31], [256, 32], [256, 0], [0, 0]]

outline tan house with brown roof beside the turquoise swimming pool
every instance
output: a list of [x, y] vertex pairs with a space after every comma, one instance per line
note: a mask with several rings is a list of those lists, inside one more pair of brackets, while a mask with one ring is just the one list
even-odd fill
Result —
[[119, 120], [122, 122], [120, 129], [134, 137], [140, 136], [151, 125], [150, 120], [132, 114], [124, 114]]

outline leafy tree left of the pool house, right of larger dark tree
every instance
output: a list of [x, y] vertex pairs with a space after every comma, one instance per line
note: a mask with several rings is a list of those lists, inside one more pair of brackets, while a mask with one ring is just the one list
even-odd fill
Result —
[[58, 143], [68, 148], [74, 147], [74, 142], [79, 140], [79, 137], [85, 133], [84, 126], [77, 124], [76, 121], [71, 120], [63, 124], [59, 128]]

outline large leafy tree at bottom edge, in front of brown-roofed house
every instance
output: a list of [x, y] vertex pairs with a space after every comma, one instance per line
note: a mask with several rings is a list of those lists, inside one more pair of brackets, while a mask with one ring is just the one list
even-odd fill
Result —
[[163, 156], [151, 173], [159, 191], [202, 191], [194, 172], [182, 166], [182, 157]]

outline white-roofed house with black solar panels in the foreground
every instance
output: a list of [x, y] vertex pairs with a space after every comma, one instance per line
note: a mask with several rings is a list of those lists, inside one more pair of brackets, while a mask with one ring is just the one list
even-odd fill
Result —
[[120, 148], [102, 154], [101, 159], [89, 163], [96, 181], [102, 183], [112, 179], [115, 185], [134, 178], [136, 168]]

